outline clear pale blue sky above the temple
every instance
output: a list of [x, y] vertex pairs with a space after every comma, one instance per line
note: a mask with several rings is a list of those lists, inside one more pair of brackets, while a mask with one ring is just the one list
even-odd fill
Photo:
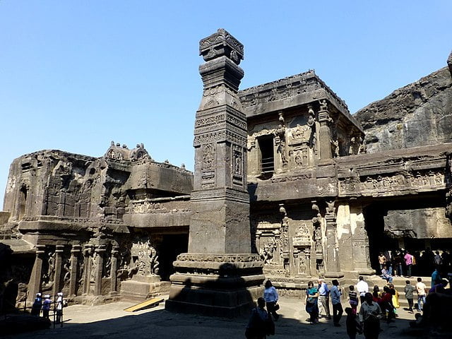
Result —
[[12, 160], [144, 143], [194, 167], [198, 42], [244, 44], [241, 88], [315, 69], [354, 113], [446, 66], [452, 1], [0, 0], [0, 209]]

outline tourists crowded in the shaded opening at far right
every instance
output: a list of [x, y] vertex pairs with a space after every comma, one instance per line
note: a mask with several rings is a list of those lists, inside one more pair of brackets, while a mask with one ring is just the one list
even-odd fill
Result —
[[429, 247], [413, 252], [396, 249], [380, 252], [378, 261], [381, 277], [390, 280], [394, 276], [427, 275], [432, 267], [451, 270], [452, 256], [448, 250], [432, 251]]

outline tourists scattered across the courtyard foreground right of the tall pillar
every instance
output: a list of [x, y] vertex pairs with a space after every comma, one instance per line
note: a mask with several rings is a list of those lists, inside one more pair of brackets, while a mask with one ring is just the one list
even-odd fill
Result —
[[[448, 280], [442, 279], [439, 270], [435, 270], [432, 275], [432, 287], [427, 286], [422, 278], [417, 278], [415, 286], [410, 280], [405, 281], [405, 297], [408, 301], [408, 311], [413, 313], [415, 303], [415, 293], [417, 295], [417, 311], [423, 311], [428, 293], [444, 292]], [[333, 326], [341, 326], [340, 319], [343, 316], [343, 306], [341, 298], [343, 289], [339, 287], [338, 280], [332, 280], [331, 288], [323, 279], [319, 278], [317, 284], [310, 281], [304, 294], [305, 310], [309, 314], [309, 323], [319, 323], [322, 316], [326, 319], [333, 318]], [[379, 337], [381, 319], [391, 323], [398, 316], [397, 309], [400, 308], [399, 293], [389, 281], [383, 286], [382, 291], [375, 285], [373, 291], [369, 291], [369, 285], [363, 277], [359, 277], [356, 285], [350, 285], [347, 291], [347, 299], [350, 307], [345, 308], [347, 320], [345, 325], [347, 335], [355, 339], [359, 333], [364, 334], [364, 338], [376, 339]], [[330, 299], [333, 306], [333, 316], [330, 312]], [[358, 305], [361, 304], [358, 311]], [[267, 306], [267, 310], [265, 307]], [[277, 313], [278, 292], [273, 287], [270, 280], [267, 280], [264, 295], [258, 298], [258, 307], [251, 312], [251, 319], [246, 328], [246, 338], [261, 339], [266, 335], [275, 333], [274, 321], [280, 318]]]

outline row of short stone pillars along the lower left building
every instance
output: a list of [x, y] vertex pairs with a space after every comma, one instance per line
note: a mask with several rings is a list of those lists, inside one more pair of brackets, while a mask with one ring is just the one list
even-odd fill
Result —
[[[61, 292], [63, 286], [61, 285], [61, 270], [63, 268], [64, 252], [67, 245], [58, 244], [55, 246], [55, 261], [54, 261], [54, 281], [52, 294], [56, 295]], [[74, 244], [71, 246], [71, 265], [70, 280], [69, 280], [69, 296], [75, 296], [77, 293], [78, 275], [79, 275], [79, 261], [82, 253], [82, 246]], [[96, 254], [97, 263], [95, 265], [94, 274], [94, 295], [102, 294], [102, 270], [105, 261], [106, 247], [105, 245], [85, 244], [83, 246], [83, 294], [89, 295], [91, 285], [91, 270], [93, 269], [93, 256]], [[29, 298], [35, 297], [37, 292], [42, 289], [42, 267], [46, 258], [46, 245], [36, 246], [35, 264], [32, 269], [30, 283], [28, 284]], [[117, 256], [119, 254], [119, 246], [113, 246], [111, 252], [111, 268], [109, 272], [110, 279], [110, 294], [117, 292]]]

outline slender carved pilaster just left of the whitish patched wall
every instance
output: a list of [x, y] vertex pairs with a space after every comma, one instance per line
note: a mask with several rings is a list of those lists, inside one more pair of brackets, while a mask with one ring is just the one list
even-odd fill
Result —
[[326, 278], [342, 278], [340, 272], [340, 258], [338, 249], [338, 232], [336, 230], [334, 202], [328, 203], [326, 208]]

